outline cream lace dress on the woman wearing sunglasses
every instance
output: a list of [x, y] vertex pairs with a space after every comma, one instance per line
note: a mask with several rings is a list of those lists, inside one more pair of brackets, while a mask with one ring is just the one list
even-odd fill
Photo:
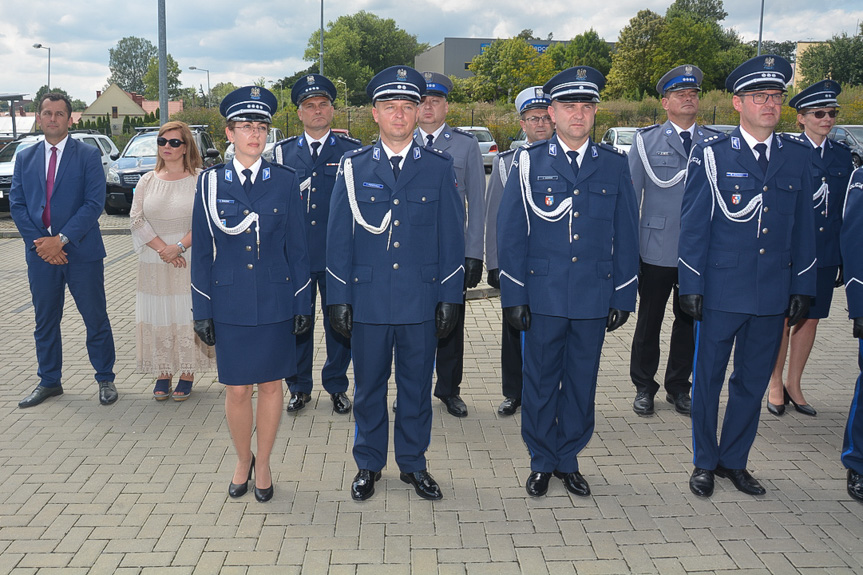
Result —
[[[138, 253], [135, 302], [137, 370], [159, 375], [215, 369], [215, 351], [192, 329], [190, 267], [175, 268], [147, 242], [157, 236], [176, 244], [192, 227], [196, 176], [165, 181], [145, 174], [135, 189], [129, 221]], [[191, 250], [183, 257], [191, 262]]]

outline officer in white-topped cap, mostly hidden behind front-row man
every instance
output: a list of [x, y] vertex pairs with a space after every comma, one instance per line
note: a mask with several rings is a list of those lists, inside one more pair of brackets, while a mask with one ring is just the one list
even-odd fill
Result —
[[[515, 109], [521, 118], [521, 129], [527, 136], [527, 143], [547, 140], [554, 133], [554, 124], [548, 115], [551, 100], [542, 86], [531, 86], [515, 97]], [[488, 187], [485, 191], [485, 257], [488, 266], [488, 285], [500, 289], [500, 270], [497, 266], [497, 211], [506, 186], [509, 169], [515, 158], [516, 150], [501, 152], [494, 158]], [[501, 388], [504, 400], [497, 412], [513, 415], [521, 405], [521, 332], [503, 320], [500, 346]]]

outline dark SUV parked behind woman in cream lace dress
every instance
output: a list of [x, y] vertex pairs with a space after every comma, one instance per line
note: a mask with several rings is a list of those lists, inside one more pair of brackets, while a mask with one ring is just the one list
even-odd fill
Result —
[[[189, 126], [195, 145], [208, 168], [222, 161], [222, 155], [213, 144], [213, 139], [207, 133], [207, 126]], [[141, 176], [156, 167], [158, 148], [156, 138], [159, 128], [136, 128], [137, 134], [132, 136], [122, 154], [112, 156], [116, 161], [111, 164], [107, 175], [107, 195], [105, 197], [105, 213], [127, 213], [132, 207], [132, 196], [135, 186]]]

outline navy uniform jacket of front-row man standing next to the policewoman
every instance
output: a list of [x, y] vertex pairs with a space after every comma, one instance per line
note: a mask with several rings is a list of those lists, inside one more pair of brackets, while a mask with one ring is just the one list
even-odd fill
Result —
[[[374, 231], [371, 231], [374, 230]], [[412, 143], [398, 181], [380, 145], [342, 157], [327, 231], [327, 303], [355, 322], [434, 320], [462, 303], [464, 208], [448, 154]]]

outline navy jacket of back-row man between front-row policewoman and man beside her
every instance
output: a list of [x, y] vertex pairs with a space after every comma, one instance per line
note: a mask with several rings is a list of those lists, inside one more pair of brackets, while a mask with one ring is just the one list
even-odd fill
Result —
[[275, 161], [297, 172], [303, 191], [303, 211], [306, 219], [309, 265], [313, 272], [326, 269], [327, 220], [330, 216], [330, 195], [336, 183], [336, 172], [342, 154], [356, 150], [359, 140], [330, 131], [326, 143], [312, 161], [305, 134], [278, 142], [274, 149]]

